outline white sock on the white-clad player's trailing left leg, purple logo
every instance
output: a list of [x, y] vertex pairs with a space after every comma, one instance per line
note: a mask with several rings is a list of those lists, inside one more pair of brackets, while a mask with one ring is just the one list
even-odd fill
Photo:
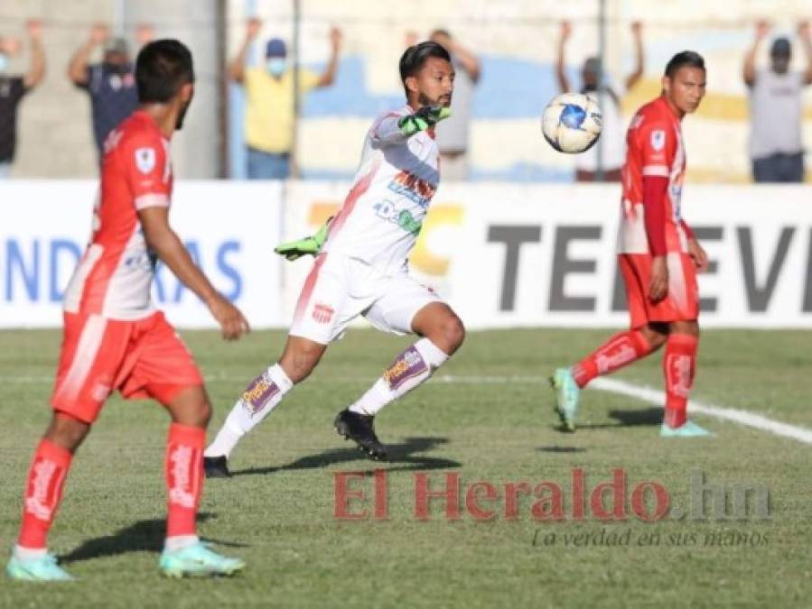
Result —
[[247, 386], [203, 455], [229, 457], [239, 439], [265, 419], [293, 386], [279, 364], [270, 366]]

